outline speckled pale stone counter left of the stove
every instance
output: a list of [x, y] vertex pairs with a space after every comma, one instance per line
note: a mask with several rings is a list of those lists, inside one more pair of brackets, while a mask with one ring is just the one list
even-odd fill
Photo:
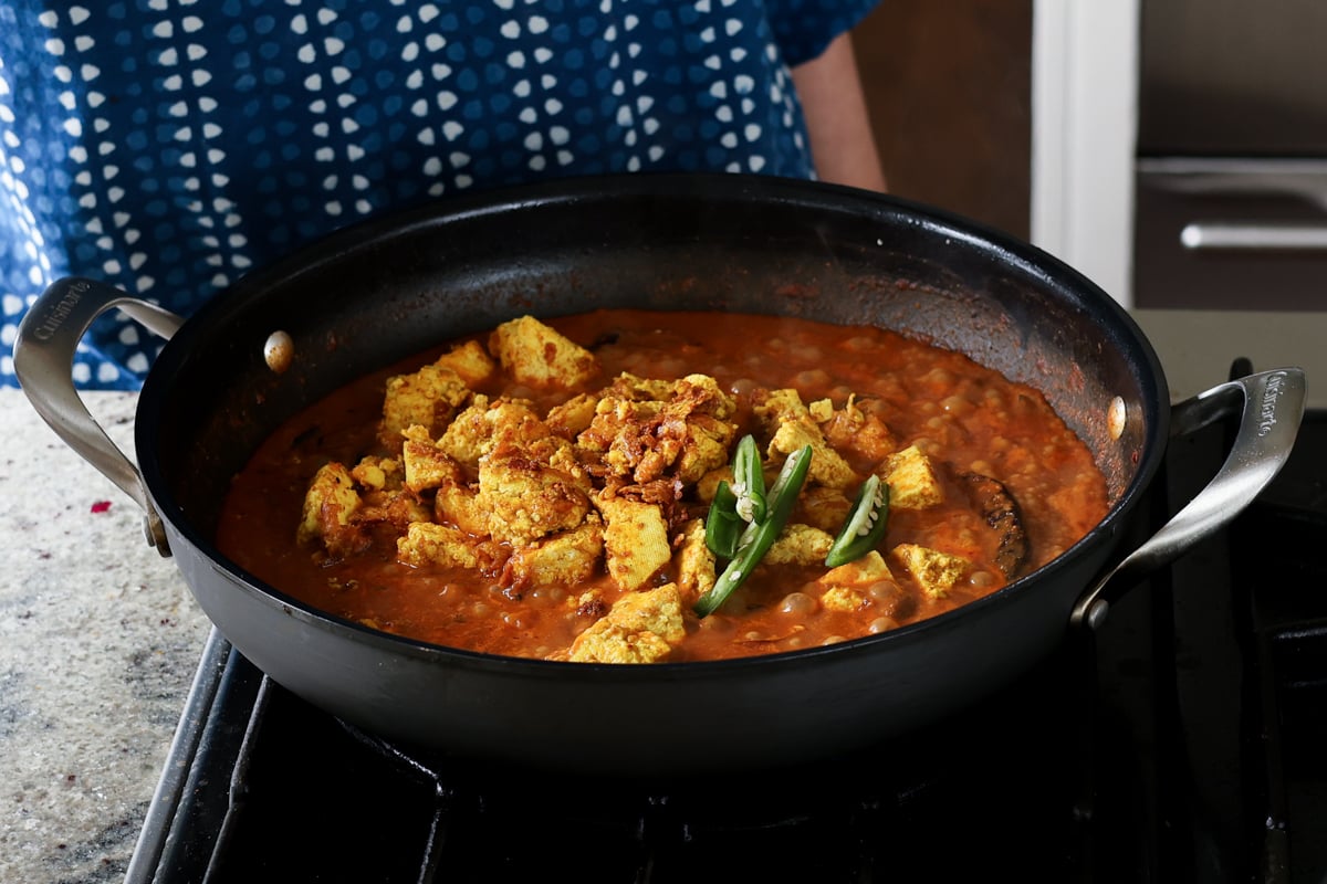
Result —
[[[134, 395], [85, 400], [133, 444]], [[119, 881], [210, 626], [23, 392], [0, 428], [0, 881]]]

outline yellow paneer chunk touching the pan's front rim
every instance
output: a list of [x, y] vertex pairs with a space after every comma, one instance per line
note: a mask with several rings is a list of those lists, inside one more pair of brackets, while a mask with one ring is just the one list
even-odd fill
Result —
[[577, 663], [656, 663], [686, 635], [682, 599], [669, 583], [624, 594], [606, 615], [576, 636], [571, 659]]

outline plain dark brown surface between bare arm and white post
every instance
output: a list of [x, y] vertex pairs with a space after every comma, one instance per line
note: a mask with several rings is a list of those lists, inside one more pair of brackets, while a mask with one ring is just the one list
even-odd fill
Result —
[[890, 191], [1027, 239], [1031, 0], [888, 0], [853, 37]]

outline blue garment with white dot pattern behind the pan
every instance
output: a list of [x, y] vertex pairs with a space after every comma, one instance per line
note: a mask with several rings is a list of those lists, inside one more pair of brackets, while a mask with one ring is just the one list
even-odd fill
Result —
[[[338, 227], [478, 187], [812, 176], [790, 66], [874, 3], [0, 0], [0, 383], [61, 276], [188, 315]], [[135, 388], [158, 349], [104, 317], [76, 380]]]

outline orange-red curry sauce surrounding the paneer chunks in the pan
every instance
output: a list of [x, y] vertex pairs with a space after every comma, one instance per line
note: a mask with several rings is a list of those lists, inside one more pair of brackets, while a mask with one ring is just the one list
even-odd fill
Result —
[[[755, 433], [762, 451], [768, 437], [752, 416], [752, 399], [762, 390], [791, 387], [804, 403], [828, 399], [836, 410], [851, 395], [872, 425], [878, 419], [888, 428], [890, 447], [916, 445], [936, 468], [943, 502], [890, 510], [878, 550], [892, 578], [855, 587], [852, 610], [827, 603], [825, 587], [817, 582], [825, 574], [823, 566], [760, 567], [710, 616], [697, 618], [687, 604], [686, 637], [670, 661], [841, 641], [949, 611], [999, 588], [1009, 579], [998, 565], [1002, 531], [1009, 526], [983, 512], [979, 496], [959, 478], [965, 473], [997, 480], [1016, 501], [1027, 539], [1016, 573], [1055, 558], [1107, 512], [1105, 482], [1091, 455], [1040, 394], [959, 354], [880, 329], [763, 315], [609, 310], [548, 325], [598, 359], [602, 371], [588, 391], [602, 388], [620, 372], [657, 379], [711, 375], [736, 400], [738, 436]], [[395, 371], [414, 371], [443, 351], [421, 354]], [[386, 376], [365, 378], [314, 404], [261, 447], [226, 502], [222, 550], [269, 584], [384, 631], [500, 655], [564, 656], [620, 595], [602, 566], [588, 584], [511, 586], [503, 580], [500, 562], [487, 570], [403, 565], [397, 561], [399, 530], [381, 530], [369, 549], [345, 557], [296, 543], [303, 498], [318, 467], [329, 460], [349, 465], [381, 452], [377, 431]], [[527, 398], [539, 414], [571, 395], [510, 382], [480, 392]], [[833, 437], [832, 428], [825, 429]], [[837, 441], [847, 444], [836, 448], [864, 477], [876, 465], [880, 440], [855, 451], [852, 436], [840, 435]], [[778, 467], [770, 464], [771, 470]], [[844, 494], [851, 497], [855, 489]], [[808, 486], [803, 493], [816, 492]], [[421, 504], [431, 508], [429, 500]], [[679, 506], [698, 518], [706, 513], [695, 489], [686, 492]], [[800, 513], [794, 513], [791, 521], [799, 520]], [[961, 557], [970, 566], [937, 598], [924, 592], [890, 555], [900, 543]], [[674, 577], [665, 569], [652, 584]], [[604, 604], [579, 602], [592, 587]]]

